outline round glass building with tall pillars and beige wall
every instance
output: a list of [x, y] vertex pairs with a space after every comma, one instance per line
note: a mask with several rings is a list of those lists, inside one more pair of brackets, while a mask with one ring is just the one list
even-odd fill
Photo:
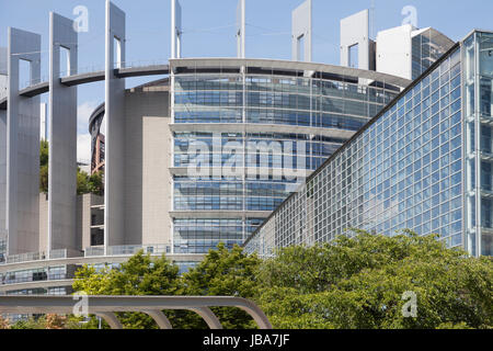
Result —
[[[126, 18], [110, 1], [104, 71], [78, 72], [73, 22], [51, 13], [49, 80], [39, 81], [41, 37], [10, 29], [0, 50], [0, 293], [69, 293], [77, 267], [119, 264], [139, 249], [185, 270], [219, 241], [242, 244], [411, 83], [371, 66], [311, 63], [311, 1], [293, 13], [293, 60], [245, 57], [244, 0], [237, 58], [182, 58], [181, 9], [171, 3], [171, 58], [152, 66], [125, 63]], [[342, 53], [367, 44], [367, 22], [343, 31]], [[21, 59], [31, 63], [27, 87]], [[140, 76], [159, 79], [126, 87]], [[91, 171], [104, 171], [104, 196], [77, 196], [77, 87], [95, 81], [105, 95], [90, 120]], [[42, 93], [48, 194], [38, 186]]]

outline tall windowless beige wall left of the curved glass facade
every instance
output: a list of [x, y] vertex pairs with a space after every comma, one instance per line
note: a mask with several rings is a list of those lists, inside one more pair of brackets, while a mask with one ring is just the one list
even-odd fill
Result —
[[127, 91], [125, 244], [170, 244], [169, 92]]

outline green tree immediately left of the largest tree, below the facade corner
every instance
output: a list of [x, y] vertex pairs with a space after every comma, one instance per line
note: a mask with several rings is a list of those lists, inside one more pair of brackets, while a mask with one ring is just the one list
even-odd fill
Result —
[[[260, 262], [255, 254], [245, 254], [237, 245], [229, 250], [223, 244], [219, 244], [217, 249], [209, 250], [197, 267], [183, 274], [183, 292], [186, 295], [253, 298], [259, 293], [256, 270]], [[250, 315], [239, 308], [213, 307], [211, 309], [227, 329], [245, 329], [256, 326]]]

